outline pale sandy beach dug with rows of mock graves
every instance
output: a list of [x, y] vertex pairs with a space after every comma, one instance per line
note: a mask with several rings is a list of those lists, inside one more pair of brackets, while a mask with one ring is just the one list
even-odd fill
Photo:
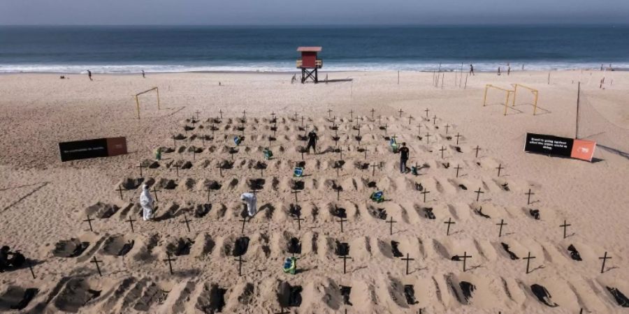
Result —
[[[629, 296], [628, 72], [448, 72], [438, 87], [433, 73], [401, 72], [399, 83], [396, 72], [327, 74], [352, 81], [0, 75], [0, 244], [33, 260], [35, 275], [0, 274], [0, 312], [17, 312], [10, 306], [29, 288], [38, 292], [24, 313], [626, 312], [610, 289]], [[575, 136], [578, 82], [579, 137], [604, 146], [593, 162], [525, 153], [527, 132]], [[528, 91], [506, 116], [500, 91], [483, 106], [486, 84], [515, 83], [539, 90], [537, 114]], [[133, 95], [152, 87], [161, 109], [155, 94], [140, 96], [138, 119]], [[319, 151], [302, 160], [312, 128]], [[235, 135], [244, 141], [230, 154]], [[393, 135], [418, 175], [400, 174]], [[59, 160], [59, 142], [101, 137], [126, 137], [129, 154]], [[154, 163], [157, 147], [166, 152]], [[300, 164], [305, 177], [295, 178]], [[153, 221], [139, 214], [140, 182], [159, 190]], [[242, 232], [239, 197], [254, 188], [259, 212]], [[375, 190], [385, 202], [369, 200]], [[414, 259], [410, 274], [398, 253]], [[465, 254], [463, 269], [453, 257]], [[282, 271], [291, 255], [295, 275]], [[296, 294], [298, 306], [284, 303]]]

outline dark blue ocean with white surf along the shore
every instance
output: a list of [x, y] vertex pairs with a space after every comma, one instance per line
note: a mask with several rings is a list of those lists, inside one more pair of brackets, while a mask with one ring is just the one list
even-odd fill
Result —
[[[0, 73], [629, 68], [629, 25], [451, 27], [0, 27]], [[441, 64], [441, 66], [440, 66]]]

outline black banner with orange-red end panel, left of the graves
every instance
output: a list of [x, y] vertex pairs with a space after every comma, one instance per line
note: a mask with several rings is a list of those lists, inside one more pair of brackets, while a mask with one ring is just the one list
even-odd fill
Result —
[[59, 143], [59, 156], [61, 156], [62, 162], [120, 154], [126, 154], [126, 139], [124, 137]]

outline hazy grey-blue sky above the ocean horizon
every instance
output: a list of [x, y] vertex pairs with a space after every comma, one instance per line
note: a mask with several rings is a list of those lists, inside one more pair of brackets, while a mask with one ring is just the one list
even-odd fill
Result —
[[0, 0], [3, 25], [627, 23], [629, 0]]

